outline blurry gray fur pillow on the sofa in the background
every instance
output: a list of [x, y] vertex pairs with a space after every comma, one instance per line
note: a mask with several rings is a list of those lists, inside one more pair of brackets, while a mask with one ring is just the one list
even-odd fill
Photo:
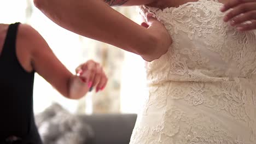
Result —
[[35, 116], [38, 131], [45, 144], [84, 144], [92, 140], [90, 125], [72, 115], [59, 104], [53, 104]]

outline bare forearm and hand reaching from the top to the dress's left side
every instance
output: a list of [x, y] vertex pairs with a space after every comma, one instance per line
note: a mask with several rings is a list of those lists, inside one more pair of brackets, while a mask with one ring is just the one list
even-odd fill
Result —
[[34, 0], [38, 9], [57, 25], [85, 37], [108, 43], [153, 61], [167, 52], [171, 37], [152, 19], [148, 28], [127, 19], [97, 0]]

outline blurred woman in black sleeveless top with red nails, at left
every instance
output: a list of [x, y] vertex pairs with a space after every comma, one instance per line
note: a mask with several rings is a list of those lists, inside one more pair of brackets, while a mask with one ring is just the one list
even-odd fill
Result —
[[90, 88], [104, 89], [102, 67], [88, 61], [73, 75], [31, 26], [0, 24], [0, 143], [40, 144], [33, 114], [34, 73], [69, 99], [82, 98]]

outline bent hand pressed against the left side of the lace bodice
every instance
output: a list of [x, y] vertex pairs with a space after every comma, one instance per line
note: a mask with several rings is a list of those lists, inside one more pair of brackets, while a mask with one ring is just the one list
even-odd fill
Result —
[[147, 15], [147, 23], [143, 22], [141, 26], [148, 29], [148, 33], [151, 34], [154, 40], [154, 47], [152, 50], [148, 50], [146, 55], [141, 55], [142, 58], [148, 62], [160, 58], [164, 55], [172, 44], [171, 35], [168, 33], [164, 25], [153, 17], [153, 14]]

